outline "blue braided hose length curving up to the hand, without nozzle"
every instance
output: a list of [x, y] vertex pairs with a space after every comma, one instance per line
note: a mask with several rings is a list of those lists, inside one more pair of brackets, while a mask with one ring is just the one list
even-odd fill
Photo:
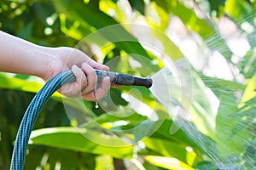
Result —
[[15, 148], [13, 150], [10, 169], [23, 169], [26, 156], [26, 146], [39, 111], [41, 111], [46, 101], [57, 89], [61, 88], [63, 84], [73, 81], [75, 81], [75, 76], [72, 71], [61, 72], [49, 80], [49, 82], [47, 82], [32, 99], [32, 102], [26, 109], [25, 115], [20, 123], [19, 131], [15, 140]]

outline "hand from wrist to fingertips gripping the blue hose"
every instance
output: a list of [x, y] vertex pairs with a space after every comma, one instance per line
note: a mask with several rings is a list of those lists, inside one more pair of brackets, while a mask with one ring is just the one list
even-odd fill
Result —
[[[107, 94], [110, 88], [109, 77], [103, 78], [101, 87], [96, 88], [96, 71], [94, 69], [108, 71], [108, 66], [96, 63], [78, 49], [50, 48], [50, 51], [52, 57], [50, 57], [49, 69], [42, 78], [49, 81], [50, 78], [61, 71], [70, 69], [76, 77], [76, 82], [70, 82], [62, 86], [59, 90], [61, 94], [68, 97], [81, 96], [83, 99], [90, 101], [98, 101]], [[82, 68], [83, 71], [79, 68]]]

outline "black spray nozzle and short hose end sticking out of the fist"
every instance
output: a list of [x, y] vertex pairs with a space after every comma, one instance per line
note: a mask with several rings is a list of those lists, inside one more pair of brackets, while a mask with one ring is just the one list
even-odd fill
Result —
[[110, 77], [110, 82], [119, 85], [128, 86], [144, 86], [150, 88], [152, 86], [152, 79], [149, 77], [136, 77], [129, 74], [112, 72], [112, 71], [100, 71], [96, 70], [97, 85], [99, 86], [104, 77]]

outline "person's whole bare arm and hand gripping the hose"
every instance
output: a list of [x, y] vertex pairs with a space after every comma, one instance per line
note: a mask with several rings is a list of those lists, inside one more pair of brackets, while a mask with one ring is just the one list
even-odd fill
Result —
[[0, 71], [32, 75], [49, 81], [61, 71], [72, 69], [76, 82], [70, 82], [59, 90], [67, 97], [81, 96], [98, 101], [110, 88], [109, 77], [105, 77], [101, 87], [96, 88], [94, 71], [108, 71], [108, 66], [97, 63], [78, 49], [38, 46], [0, 31], [0, 52]]

